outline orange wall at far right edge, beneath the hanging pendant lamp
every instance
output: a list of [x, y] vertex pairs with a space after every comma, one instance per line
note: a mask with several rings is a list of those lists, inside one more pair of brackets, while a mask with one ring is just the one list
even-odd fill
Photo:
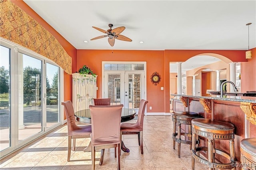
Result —
[[[256, 91], [256, 48], [252, 50], [252, 59], [241, 63], [241, 92]], [[244, 54], [245, 55], [245, 54]]]

